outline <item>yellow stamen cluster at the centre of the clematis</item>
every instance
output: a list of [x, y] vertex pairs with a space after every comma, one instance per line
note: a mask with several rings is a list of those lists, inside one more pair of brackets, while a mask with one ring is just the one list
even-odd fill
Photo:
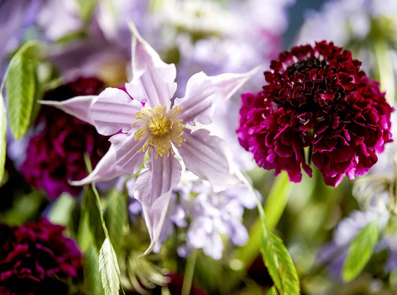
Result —
[[156, 107], [149, 108], [145, 107], [137, 112], [134, 116], [136, 122], [132, 124], [140, 125], [137, 131], [135, 131], [135, 140], [146, 139], [143, 148], [138, 150], [138, 152], [150, 153], [151, 148], [156, 149], [155, 158], [159, 155], [167, 153], [167, 157], [174, 154], [174, 149], [172, 148], [172, 142], [178, 147], [182, 145], [182, 142], [186, 141], [182, 138], [184, 133], [183, 128], [185, 127], [182, 122], [183, 119], [175, 120], [175, 118], [183, 110], [182, 107], [174, 107], [170, 112], [167, 112], [166, 106], [158, 105]]

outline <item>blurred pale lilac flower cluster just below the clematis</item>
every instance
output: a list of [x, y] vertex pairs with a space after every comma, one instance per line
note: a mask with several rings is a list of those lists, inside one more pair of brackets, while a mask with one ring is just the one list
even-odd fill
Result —
[[[132, 218], [142, 210], [134, 198], [134, 183], [135, 179], [126, 182]], [[193, 248], [203, 249], [206, 255], [218, 260], [222, 257], [224, 238], [236, 246], [246, 243], [248, 233], [242, 217], [244, 208], [254, 207], [255, 194], [243, 184], [214, 192], [209, 181], [184, 171], [180, 183], [172, 191], [164, 226], [153, 251], [160, 250], [175, 227], [186, 228], [186, 242], [178, 248], [178, 254], [186, 258]]]

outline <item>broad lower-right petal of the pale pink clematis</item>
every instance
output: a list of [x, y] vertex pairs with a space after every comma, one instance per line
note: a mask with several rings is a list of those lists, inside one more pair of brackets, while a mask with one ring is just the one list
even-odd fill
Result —
[[215, 190], [225, 189], [239, 182], [232, 171], [231, 152], [224, 140], [211, 136], [206, 129], [184, 131], [183, 138], [186, 141], [178, 147], [178, 152], [186, 169], [210, 181]]

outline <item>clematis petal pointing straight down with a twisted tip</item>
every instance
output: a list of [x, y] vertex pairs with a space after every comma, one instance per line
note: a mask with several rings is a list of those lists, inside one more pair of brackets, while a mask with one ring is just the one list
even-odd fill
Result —
[[182, 165], [174, 156], [155, 159], [154, 155], [152, 149], [150, 158], [145, 164], [149, 169], [138, 177], [134, 190], [134, 197], [142, 204], [151, 238], [151, 244], [143, 255], [153, 250], [160, 236], [171, 191], [179, 183], [182, 175]]

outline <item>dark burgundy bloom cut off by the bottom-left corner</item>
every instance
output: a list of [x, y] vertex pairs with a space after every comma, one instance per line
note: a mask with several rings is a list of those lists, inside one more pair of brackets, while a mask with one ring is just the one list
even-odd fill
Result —
[[64, 229], [45, 218], [20, 227], [0, 224], [0, 295], [67, 294], [66, 281], [81, 273], [82, 262]]

